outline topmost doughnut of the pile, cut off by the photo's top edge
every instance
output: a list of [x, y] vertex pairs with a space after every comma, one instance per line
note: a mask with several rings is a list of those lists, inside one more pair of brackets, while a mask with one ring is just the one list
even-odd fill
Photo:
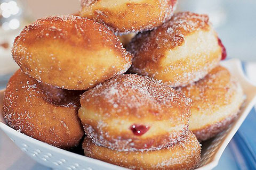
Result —
[[118, 32], [151, 30], [169, 20], [177, 0], [83, 0], [80, 15]]

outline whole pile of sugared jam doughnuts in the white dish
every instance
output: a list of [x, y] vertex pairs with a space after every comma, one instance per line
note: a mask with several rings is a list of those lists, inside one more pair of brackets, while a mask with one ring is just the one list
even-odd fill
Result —
[[7, 124], [131, 169], [195, 168], [199, 141], [243, 103], [208, 16], [173, 13], [177, 0], [81, 4], [80, 16], [39, 19], [15, 38]]

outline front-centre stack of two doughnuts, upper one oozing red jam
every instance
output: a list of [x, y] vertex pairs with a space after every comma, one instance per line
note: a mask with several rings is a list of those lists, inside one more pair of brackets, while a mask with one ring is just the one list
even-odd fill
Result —
[[190, 99], [182, 92], [124, 74], [87, 90], [80, 101], [85, 156], [132, 169], [192, 169], [199, 163], [201, 147], [188, 130]]

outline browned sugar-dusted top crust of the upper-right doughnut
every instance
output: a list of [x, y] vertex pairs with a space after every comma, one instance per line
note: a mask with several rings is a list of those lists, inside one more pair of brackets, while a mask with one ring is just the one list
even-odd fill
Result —
[[[182, 45], [185, 36], [195, 31], [204, 29], [208, 30], [209, 17], [207, 15], [199, 15], [191, 12], [178, 12], [175, 13], [171, 20], [156, 28], [153, 31], [139, 33], [134, 39], [133, 43], [129, 46], [130, 52], [133, 54], [139, 53], [141, 50], [147, 50], [159, 44], [159, 47], [165, 46], [166, 49], [173, 49]], [[144, 39], [140, 41], [140, 39]], [[146, 39], [145, 39], [146, 38]], [[152, 42], [151, 39], [156, 40]], [[158, 60], [162, 53], [159, 52], [152, 56], [151, 60]]]

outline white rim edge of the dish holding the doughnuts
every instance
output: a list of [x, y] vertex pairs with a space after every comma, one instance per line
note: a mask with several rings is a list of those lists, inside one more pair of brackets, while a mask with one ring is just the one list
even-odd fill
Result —
[[[242, 85], [244, 94], [247, 95], [247, 98], [245, 101], [246, 104], [243, 108], [243, 112], [241, 112], [239, 114], [237, 120], [232, 124], [231, 129], [227, 132], [226, 137], [222, 139], [220, 147], [211, 156], [212, 157], [211, 162], [209, 162], [201, 167], [198, 167], [197, 170], [212, 169], [218, 165], [218, 162], [220, 160], [220, 157], [221, 157], [223, 151], [225, 150], [228, 143], [233, 138], [233, 136], [235, 135], [235, 133], [237, 132], [237, 130], [239, 129], [239, 127], [241, 126], [241, 124], [243, 123], [246, 116], [249, 114], [249, 112], [253, 108], [253, 106], [256, 104], [256, 86], [253, 86], [250, 83], [250, 81], [245, 77], [243, 69], [242, 69], [241, 61], [238, 59], [231, 59], [231, 60], [227, 60], [227, 61], [222, 61], [221, 65], [225, 66], [231, 72], [231, 74], [236, 75], [237, 80]], [[3, 94], [4, 94], [4, 90], [1, 90], [0, 91], [0, 100], [1, 101], [3, 99]], [[2, 105], [0, 105], [0, 107], [2, 107]], [[63, 150], [63, 149], [60, 149], [57, 147], [53, 147], [51, 145], [48, 145], [47, 143], [44, 143], [44, 142], [41, 142], [34, 138], [28, 137], [27, 135], [22, 134], [18, 131], [15, 131], [14, 129], [12, 129], [8, 125], [6, 125], [6, 122], [4, 121], [3, 116], [2, 116], [2, 112], [0, 111], [0, 113], [1, 113], [0, 114], [0, 128], [9, 137], [10, 137], [10, 135], [15, 136], [17, 138], [20, 138], [21, 140], [28, 141], [29, 143], [33, 143], [34, 145], [37, 145], [37, 146], [39, 145], [41, 148], [44, 148], [45, 150], [51, 150], [51, 151], [57, 152], [58, 154], [65, 156], [66, 158], [72, 157], [74, 159], [80, 160], [87, 164], [94, 164], [94, 165], [98, 165], [98, 166], [100, 165], [101, 167], [109, 168], [109, 169], [127, 169], [124, 167], [120, 167], [120, 166], [116, 166], [113, 164], [103, 162], [98, 159], [89, 158], [89, 157], [78, 155], [73, 152], [66, 151], [66, 150]], [[33, 159], [35, 159], [35, 158], [33, 158]], [[46, 166], [51, 166], [51, 165], [47, 164], [47, 162], [40, 162], [40, 161], [38, 161], [38, 159], [35, 159], [35, 160], [37, 160], [37, 162], [44, 164]], [[53, 167], [53, 166], [51, 166], [51, 167]]]

